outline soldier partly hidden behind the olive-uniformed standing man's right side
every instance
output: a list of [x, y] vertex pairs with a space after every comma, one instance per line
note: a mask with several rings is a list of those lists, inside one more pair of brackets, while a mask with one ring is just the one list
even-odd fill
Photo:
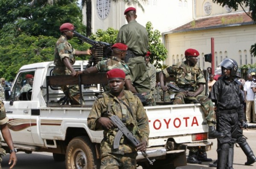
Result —
[[[145, 55], [145, 63], [148, 69], [148, 76], [150, 79], [150, 93], [154, 97], [154, 100], [157, 98], [157, 95], [154, 95], [154, 89], [156, 88], [156, 81], [157, 81], [157, 70], [152, 65], [150, 61], [150, 52], [148, 51], [147, 54]], [[156, 102], [154, 101], [152, 105], [156, 105]]]

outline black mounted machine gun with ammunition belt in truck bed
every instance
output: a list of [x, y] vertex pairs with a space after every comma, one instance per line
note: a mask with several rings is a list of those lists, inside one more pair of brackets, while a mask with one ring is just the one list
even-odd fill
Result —
[[89, 39], [88, 37], [86, 37], [84, 35], [79, 34], [76, 31], [73, 31], [73, 33], [77, 38], [79, 38], [83, 42], [89, 43], [90, 45], [93, 46], [90, 49], [94, 50], [95, 54], [92, 54], [92, 57], [88, 61], [89, 63], [87, 65], [87, 67], [92, 66], [92, 63], [97, 64], [100, 60], [102, 60], [103, 57], [104, 58], [111, 57], [112, 49], [111, 49], [111, 45], [109, 43], [96, 42], [94, 40]]

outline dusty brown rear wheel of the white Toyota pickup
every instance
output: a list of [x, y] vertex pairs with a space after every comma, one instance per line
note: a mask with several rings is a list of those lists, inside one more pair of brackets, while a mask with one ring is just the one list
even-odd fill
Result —
[[99, 169], [100, 160], [96, 159], [95, 145], [86, 136], [73, 138], [66, 151], [67, 169]]

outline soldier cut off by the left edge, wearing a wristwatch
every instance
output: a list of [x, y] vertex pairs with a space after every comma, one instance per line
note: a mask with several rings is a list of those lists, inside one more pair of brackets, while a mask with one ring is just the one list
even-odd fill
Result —
[[[4, 91], [1, 87], [0, 93], [3, 93], [3, 92]], [[9, 121], [9, 119], [8, 117], [6, 117], [6, 111], [5, 111], [3, 100], [4, 100], [4, 97], [0, 97], [0, 130], [3, 135], [3, 139], [7, 143], [9, 149], [11, 150], [9, 164], [12, 163], [12, 166], [10, 166], [10, 169], [12, 169], [17, 163], [17, 157], [16, 157], [17, 150], [13, 146], [12, 136], [7, 126], [7, 122]], [[1, 147], [1, 140], [2, 138], [0, 136], [0, 147]], [[0, 162], [2, 162], [2, 156], [5, 156], [5, 155], [6, 155], [6, 151], [0, 148]], [[1, 163], [0, 163], [0, 169], [2, 169]]]

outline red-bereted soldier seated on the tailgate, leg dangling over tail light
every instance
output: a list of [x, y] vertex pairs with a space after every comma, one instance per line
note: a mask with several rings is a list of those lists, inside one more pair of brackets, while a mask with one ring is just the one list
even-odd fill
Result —
[[[161, 88], [163, 91], [167, 91], [168, 87], [164, 85], [164, 76], [170, 77], [175, 76], [175, 83], [186, 92], [177, 92], [175, 94], [174, 104], [185, 104], [195, 99], [198, 101], [203, 109], [207, 123], [209, 125], [209, 138], [221, 138], [224, 136], [223, 133], [219, 133], [215, 130], [216, 117], [212, 100], [207, 96], [201, 95], [204, 91], [204, 84], [206, 80], [204, 78], [203, 71], [196, 64], [198, 61], [199, 52], [195, 49], [187, 49], [185, 51], [184, 62], [174, 64], [164, 69], [159, 74]], [[189, 98], [188, 98], [189, 97]], [[191, 150], [189, 151], [188, 163], [201, 163], [201, 161], [211, 161], [212, 159], [207, 158], [207, 154], [204, 149], [201, 151]]]

